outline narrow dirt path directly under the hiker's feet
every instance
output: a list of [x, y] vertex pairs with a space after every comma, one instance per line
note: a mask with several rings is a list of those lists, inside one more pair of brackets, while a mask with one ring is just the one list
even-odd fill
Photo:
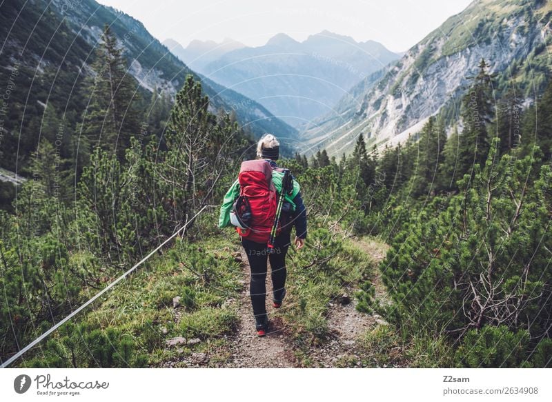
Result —
[[[266, 281], [266, 311], [270, 319], [270, 330], [266, 336], [259, 337], [255, 332], [255, 319], [249, 297], [250, 270], [247, 256], [242, 250], [240, 253], [244, 266], [244, 274], [247, 280], [244, 291], [239, 297], [239, 324], [235, 339], [233, 339], [233, 361], [226, 367], [242, 368], [293, 368], [297, 367], [297, 361], [284, 334], [282, 321], [274, 316], [272, 307], [272, 281], [270, 281], [270, 269], [267, 272]], [[270, 267], [270, 263], [268, 264]], [[282, 308], [285, 308], [282, 305]]]

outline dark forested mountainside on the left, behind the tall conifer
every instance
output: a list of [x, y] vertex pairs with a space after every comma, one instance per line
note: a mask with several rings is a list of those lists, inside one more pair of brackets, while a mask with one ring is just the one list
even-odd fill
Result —
[[[139, 21], [94, 0], [9, 0], [0, 7], [0, 167], [25, 177], [41, 140], [52, 145], [58, 141], [55, 148], [66, 161], [63, 169], [77, 168], [78, 174], [87, 163], [88, 145], [95, 139], [88, 136], [86, 120], [97, 112], [90, 94], [95, 93], [95, 77], [108, 75], [108, 70], [101, 70], [107, 57], [101, 53], [105, 26], [112, 34], [109, 54], [117, 52], [118, 71], [111, 83], [118, 86], [124, 81], [115, 117], [122, 124], [122, 143], [114, 146], [124, 147], [130, 134], [156, 134], [161, 139], [186, 75], [199, 80]], [[233, 112], [233, 119], [251, 137], [266, 131], [294, 137], [295, 130], [262, 105], [215, 85], [204, 82], [202, 86], [210, 99], [210, 112]]]

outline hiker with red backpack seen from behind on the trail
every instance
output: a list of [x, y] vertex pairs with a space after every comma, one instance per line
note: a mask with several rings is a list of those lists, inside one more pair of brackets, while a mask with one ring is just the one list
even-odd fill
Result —
[[[278, 167], [278, 158], [278, 140], [273, 134], [264, 134], [257, 143], [257, 160], [242, 163], [239, 179], [224, 196], [219, 217], [219, 228], [234, 224], [242, 239], [251, 270], [249, 291], [255, 329], [259, 336], [268, 332], [265, 305], [267, 258], [270, 260], [273, 284], [273, 307], [280, 308], [286, 296], [286, 254], [291, 230], [295, 226], [294, 243], [297, 250], [303, 248], [307, 233], [306, 209], [299, 183], [289, 170]], [[240, 191], [242, 194], [247, 191], [248, 195], [239, 197]], [[284, 194], [284, 198], [281, 194]], [[278, 205], [278, 201], [281, 205]], [[235, 213], [237, 209], [243, 213]], [[279, 219], [278, 209], [281, 210]], [[246, 219], [250, 219], [249, 224], [244, 224]]]

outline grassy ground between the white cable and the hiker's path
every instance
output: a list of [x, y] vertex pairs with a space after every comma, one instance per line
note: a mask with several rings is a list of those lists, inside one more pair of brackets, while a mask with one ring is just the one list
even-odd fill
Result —
[[[243, 286], [242, 267], [231, 253], [232, 241], [235, 243], [225, 235], [195, 243], [177, 240], [172, 248], [116, 285], [76, 322], [102, 333], [115, 330], [125, 334], [150, 366], [205, 350], [210, 350], [210, 362], [220, 363], [228, 357], [224, 335], [233, 331], [238, 319], [236, 306], [226, 301], [235, 299]], [[87, 256], [75, 258], [87, 261]], [[95, 292], [90, 290], [90, 295]], [[177, 296], [180, 305], [173, 308], [172, 299]], [[199, 338], [201, 343], [168, 347], [166, 341], [175, 336]], [[60, 328], [50, 339], [47, 356], [35, 356], [30, 364], [45, 362], [54, 355], [56, 365], [70, 366], [69, 349], [63, 346], [68, 339]], [[90, 364], [77, 362], [79, 367]]]

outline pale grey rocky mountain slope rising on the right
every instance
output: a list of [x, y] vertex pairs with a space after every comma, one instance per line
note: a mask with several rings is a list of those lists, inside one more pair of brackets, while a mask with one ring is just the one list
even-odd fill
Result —
[[361, 132], [369, 145], [396, 144], [437, 112], [455, 121], [468, 77], [482, 58], [497, 74], [496, 97], [515, 86], [517, 96], [531, 102], [549, 77], [551, 16], [550, 1], [473, 1], [313, 121], [301, 133], [304, 148], [341, 154]]

